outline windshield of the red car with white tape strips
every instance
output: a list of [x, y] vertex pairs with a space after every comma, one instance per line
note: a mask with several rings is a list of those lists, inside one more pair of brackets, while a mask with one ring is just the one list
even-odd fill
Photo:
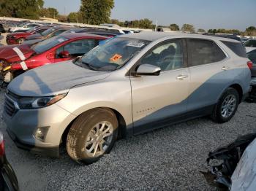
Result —
[[31, 48], [32, 50], [34, 50], [34, 52], [39, 54], [45, 52], [46, 50], [50, 50], [52, 47], [55, 47], [56, 45], [61, 44], [62, 42], [65, 42], [67, 40], [68, 39], [64, 36], [55, 36], [53, 38], [39, 42]]

